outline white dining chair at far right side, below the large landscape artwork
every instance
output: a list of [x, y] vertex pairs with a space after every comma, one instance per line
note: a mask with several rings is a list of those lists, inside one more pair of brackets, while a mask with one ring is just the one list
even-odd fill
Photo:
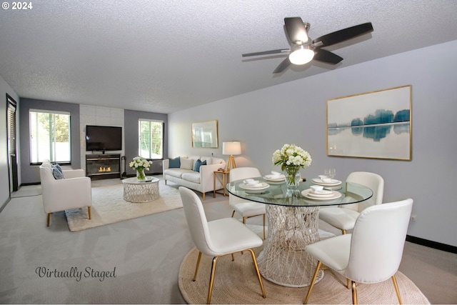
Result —
[[343, 234], [353, 229], [360, 212], [367, 206], [382, 204], [384, 194], [384, 179], [378, 174], [367, 171], [354, 171], [348, 175], [346, 182], [354, 182], [368, 186], [373, 191], [371, 199], [359, 204], [343, 204], [341, 206], [329, 206], [319, 211], [319, 219], [327, 224], [340, 229]]

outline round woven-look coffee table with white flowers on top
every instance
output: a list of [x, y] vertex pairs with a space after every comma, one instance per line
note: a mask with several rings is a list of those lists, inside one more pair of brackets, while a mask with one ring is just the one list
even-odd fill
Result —
[[124, 200], [129, 202], [148, 202], [159, 198], [159, 179], [146, 177], [146, 181], [134, 178], [122, 180], [124, 184]]

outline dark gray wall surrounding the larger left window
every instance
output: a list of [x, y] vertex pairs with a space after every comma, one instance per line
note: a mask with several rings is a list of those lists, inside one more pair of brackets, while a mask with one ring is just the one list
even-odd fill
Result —
[[30, 165], [29, 110], [66, 111], [71, 119], [71, 168], [81, 169], [81, 149], [79, 144], [79, 104], [43, 101], [40, 99], [21, 99], [19, 106], [19, 126], [21, 142], [21, 183], [33, 184], [40, 181], [39, 165]]

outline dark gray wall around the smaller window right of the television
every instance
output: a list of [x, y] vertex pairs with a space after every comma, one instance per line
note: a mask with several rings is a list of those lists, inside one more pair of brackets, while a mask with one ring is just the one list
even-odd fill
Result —
[[[156, 114], [153, 112], [144, 111], [124, 111], [124, 136], [125, 136], [125, 155], [126, 155], [126, 173], [127, 175], [134, 175], [135, 171], [129, 167], [129, 162], [138, 156], [138, 120], [149, 119], [164, 121], [164, 157], [168, 156], [168, 114]], [[148, 173], [161, 172], [161, 161], [153, 161], [152, 166], [149, 168]]]

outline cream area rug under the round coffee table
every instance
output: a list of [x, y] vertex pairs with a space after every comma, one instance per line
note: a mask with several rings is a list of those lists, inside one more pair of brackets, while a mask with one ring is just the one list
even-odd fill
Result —
[[159, 181], [159, 199], [145, 203], [132, 203], [122, 197], [124, 188], [121, 183], [92, 186], [91, 218], [88, 219], [87, 209], [73, 209], [65, 211], [70, 231], [81, 231], [114, 224], [115, 222], [134, 219], [151, 214], [161, 213], [181, 208], [182, 202], [179, 190], [166, 186]]

